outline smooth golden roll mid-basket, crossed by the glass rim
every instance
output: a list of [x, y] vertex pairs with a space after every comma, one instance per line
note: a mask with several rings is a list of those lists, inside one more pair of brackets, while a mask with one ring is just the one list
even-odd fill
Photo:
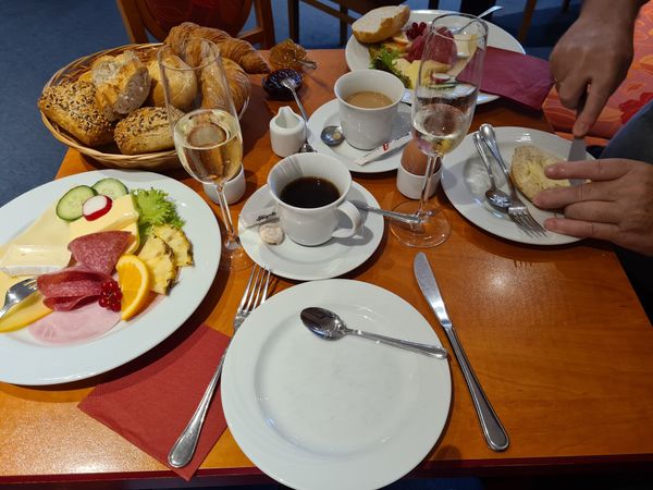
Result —
[[[193, 105], [197, 95], [197, 78], [193, 70], [189, 70], [184, 60], [176, 56], [167, 57], [163, 62], [169, 66], [187, 69], [187, 71], [168, 70], [168, 81], [173, 94], [172, 105], [182, 111], [186, 111]], [[161, 70], [159, 61], [155, 58], [147, 64], [147, 71], [151, 79], [151, 87], [146, 103], [153, 107], [165, 107], [163, 83], [161, 82]]]

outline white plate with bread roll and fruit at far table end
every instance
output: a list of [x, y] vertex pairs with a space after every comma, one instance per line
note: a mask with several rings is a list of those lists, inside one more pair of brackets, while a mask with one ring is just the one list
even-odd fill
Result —
[[[372, 9], [354, 24], [352, 37], [345, 47], [349, 70], [384, 70], [398, 76], [411, 93], [419, 74], [421, 38], [428, 24], [438, 15], [454, 13], [445, 10], [414, 10], [408, 5], [390, 5]], [[488, 46], [526, 53], [510, 34], [486, 22]], [[466, 42], [456, 42], [465, 51]], [[460, 52], [460, 56], [465, 56]], [[479, 93], [477, 103], [491, 102], [498, 96]]]

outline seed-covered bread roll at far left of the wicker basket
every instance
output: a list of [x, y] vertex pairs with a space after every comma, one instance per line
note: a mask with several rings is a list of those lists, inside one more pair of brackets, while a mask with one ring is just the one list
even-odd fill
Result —
[[99, 111], [96, 89], [89, 82], [51, 85], [38, 100], [42, 113], [86, 146], [113, 139], [113, 124]]

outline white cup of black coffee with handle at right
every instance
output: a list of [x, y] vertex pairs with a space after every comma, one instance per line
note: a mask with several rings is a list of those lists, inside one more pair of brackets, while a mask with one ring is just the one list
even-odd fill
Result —
[[[268, 174], [281, 228], [293, 242], [306, 246], [358, 232], [362, 219], [347, 200], [350, 187], [352, 174], [344, 163], [320, 154], [291, 155]], [[348, 223], [343, 224], [343, 216]]]

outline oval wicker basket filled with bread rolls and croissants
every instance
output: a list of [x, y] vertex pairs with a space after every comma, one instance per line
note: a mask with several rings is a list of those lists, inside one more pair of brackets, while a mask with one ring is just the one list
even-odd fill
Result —
[[[266, 59], [249, 42], [223, 30], [186, 22], [164, 42], [202, 37], [220, 47], [234, 106], [241, 117], [251, 94], [249, 74], [268, 73]], [[160, 44], [127, 45], [89, 54], [59, 70], [38, 100], [52, 135], [106, 167], [163, 170], [181, 167], [168, 123], [157, 60]], [[181, 59], [168, 60], [183, 63]], [[209, 77], [173, 81], [192, 100], [211, 89]], [[177, 107], [183, 108], [180, 100]]]

